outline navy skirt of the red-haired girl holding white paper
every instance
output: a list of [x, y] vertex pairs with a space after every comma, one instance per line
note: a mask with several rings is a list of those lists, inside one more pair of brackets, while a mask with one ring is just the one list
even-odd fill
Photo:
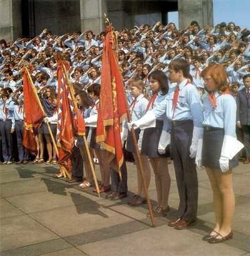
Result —
[[[211, 169], [221, 170], [219, 158], [224, 139], [224, 129], [204, 130], [202, 146], [202, 165]], [[239, 165], [237, 155], [229, 160], [229, 170]]]

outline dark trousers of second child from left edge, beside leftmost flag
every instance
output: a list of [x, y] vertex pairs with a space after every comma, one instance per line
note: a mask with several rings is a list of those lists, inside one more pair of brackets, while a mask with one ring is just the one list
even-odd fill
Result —
[[16, 132], [16, 142], [19, 161], [29, 160], [29, 151], [22, 145], [23, 139], [23, 121], [15, 121], [15, 132]]

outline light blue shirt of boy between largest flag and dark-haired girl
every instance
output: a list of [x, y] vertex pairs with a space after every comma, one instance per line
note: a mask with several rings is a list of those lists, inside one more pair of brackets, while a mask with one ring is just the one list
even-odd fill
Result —
[[145, 115], [148, 103], [149, 101], [145, 98], [143, 94], [139, 95], [136, 98], [135, 105], [133, 104], [133, 101], [132, 101], [129, 107], [129, 110], [131, 112], [131, 117], [133, 121], [139, 120]]

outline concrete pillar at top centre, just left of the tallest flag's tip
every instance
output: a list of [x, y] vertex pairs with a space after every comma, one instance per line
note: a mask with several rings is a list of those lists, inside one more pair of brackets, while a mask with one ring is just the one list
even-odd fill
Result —
[[104, 31], [104, 13], [108, 14], [106, 0], [80, 0], [81, 31], [92, 30], [94, 33]]

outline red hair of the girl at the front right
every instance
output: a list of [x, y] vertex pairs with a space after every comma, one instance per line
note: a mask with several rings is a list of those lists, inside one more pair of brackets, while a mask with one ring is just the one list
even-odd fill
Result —
[[212, 64], [210, 66], [207, 66], [201, 71], [201, 77], [204, 78], [204, 76], [206, 76], [207, 74], [209, 74], [211, 78], [214, 79], [214, 82], [218, 86], [218, 91], [224, 92], [226, 90], [229, 90], [229, 83], [224, 66], [222, 66], [221, 64]]

